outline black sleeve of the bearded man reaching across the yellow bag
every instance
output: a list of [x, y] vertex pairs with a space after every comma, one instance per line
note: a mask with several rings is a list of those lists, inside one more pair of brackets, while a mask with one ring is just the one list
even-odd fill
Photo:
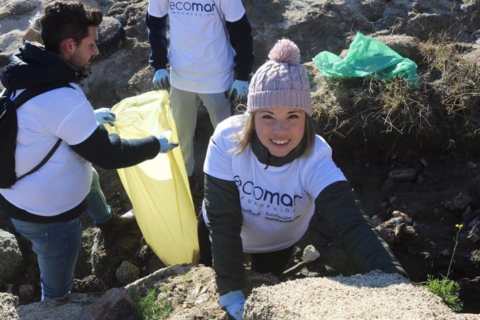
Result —
[[85, 141], [70, 147], [87, 161], [104, 169], [134, 166], [157, 157], [160, 151], [160, 143], [155, 136], [122, 139], [118, 134], [109, 134], [102, 125]]

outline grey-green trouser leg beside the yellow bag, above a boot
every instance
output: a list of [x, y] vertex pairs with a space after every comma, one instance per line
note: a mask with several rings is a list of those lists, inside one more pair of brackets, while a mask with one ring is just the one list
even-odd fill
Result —
[[112, 209], [106, 204], [105, 195], [100, 188], [100, 180], [97, 170], [92, 167], [92, 171], [92, 186], [90, 186], [90, 192], [87, 195], [88, 214], [90, 214], [93, 221], [99, 225], [100, 223], [110, 220]]

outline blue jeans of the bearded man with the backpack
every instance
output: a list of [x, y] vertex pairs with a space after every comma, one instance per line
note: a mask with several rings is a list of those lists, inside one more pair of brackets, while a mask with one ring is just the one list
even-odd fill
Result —
[[81, 248], [80, 218], [59, 223], [31, 223], [10, 219], [15, 230], [32, 243], [40, 267], [42, 301], [70, 293]]

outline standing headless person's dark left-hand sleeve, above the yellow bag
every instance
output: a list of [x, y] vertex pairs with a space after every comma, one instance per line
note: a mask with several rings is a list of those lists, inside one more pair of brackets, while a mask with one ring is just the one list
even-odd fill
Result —
[[154, 67], [154, 70], [166, 69], [168, 63], [167, 57], [167, 15], [163, 17], [145, 16], [147, 25], [148, 41], [150, 42], [150, 57], [148, 63]]

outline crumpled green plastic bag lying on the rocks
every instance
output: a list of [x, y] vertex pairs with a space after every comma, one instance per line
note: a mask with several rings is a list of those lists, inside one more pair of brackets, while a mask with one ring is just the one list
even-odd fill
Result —
[[357, 32], [344, 59], [328, 51], [313, 58], [324, 77], [371, 77], [390, 80], [401, 77], [416, 88], [419, 85], [417, 65], [403, 58], [384, 43]]

